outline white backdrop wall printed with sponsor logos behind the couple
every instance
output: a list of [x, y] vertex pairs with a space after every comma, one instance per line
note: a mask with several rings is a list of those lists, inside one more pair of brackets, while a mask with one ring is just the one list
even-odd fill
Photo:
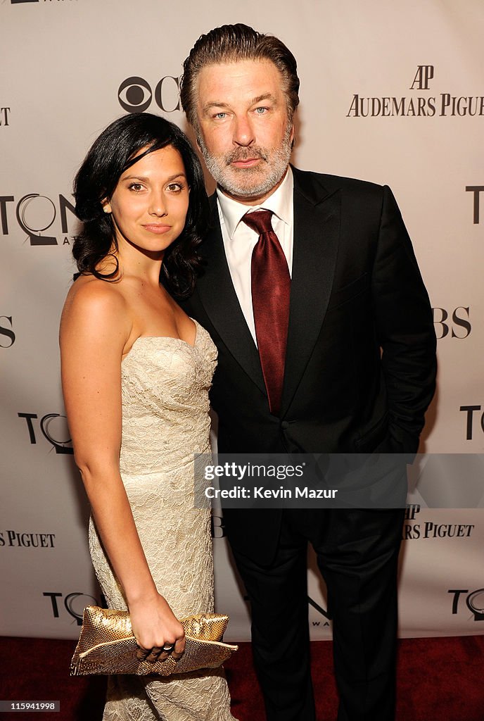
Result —
[[[73, 175], [122, 113], [150, 110], [186, 129], [182, 62], [225, 22], [278, 35], [295, 54], [297, 166], [393, 188], [439, 337], [422, 449], [484, 452], [482, 0], [1, 0], [0, 634], [73, 638], [83, 607], [99, 601], [59, 380]], [[402, 636], [484, 632], [484, 474], [467, 501], [452, 457], [413, 478]], [[427, 508], [439, 494], [451, 508]], [[230, 637], [244, 640], [248, 609], [218, 512], [213, 530], [218, 608], [232, 616]], [[313, 568], [310, 558], [310, 624], [325, 639]]]

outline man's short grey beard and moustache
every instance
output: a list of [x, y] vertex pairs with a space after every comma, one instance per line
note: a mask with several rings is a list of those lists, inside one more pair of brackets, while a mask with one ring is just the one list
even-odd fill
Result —
[[[210, 154], [202, 134], [197, 142], [202, 151], [208, 172], [228, 195], [235, 198], [260, 198], [270, 193], [284, 177], [292, 151], [292, 124], [287, 123], [279, 148], [268, 150], [259, 146], [239, 147], [222, 156]], [[231, 163], [249, 158], [261, 158], [261, 163], [250, 168], [236, 168]]]

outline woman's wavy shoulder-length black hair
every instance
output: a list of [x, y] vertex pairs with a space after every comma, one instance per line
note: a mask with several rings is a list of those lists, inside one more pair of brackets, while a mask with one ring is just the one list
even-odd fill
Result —
[[[76, 216], [84, 224], [73, 245], [73, 257], [79, 274], [91, 273], [102, 280], [115, 280], [119, 265], [112, 273], [99, 273], [97, 265], [114, 245], [115, 227], [110, 213], [104, 213], [102, 201], [115, 192], [123, 172], [148, 153], [171, 146], [181, 155], [190, 188], [184, 230], [166, 249], [161, 280], [176, 296], [192, 292], [200, 256], [197, 246], [207, 229], [208, 203], [202, 167], [187, 136], [169, 120], [148, 112], [123, 115], [107, 126], [94, 141], [79, 168], [73, 184]], [[136, 156], [142, 148], [145, 153]]]

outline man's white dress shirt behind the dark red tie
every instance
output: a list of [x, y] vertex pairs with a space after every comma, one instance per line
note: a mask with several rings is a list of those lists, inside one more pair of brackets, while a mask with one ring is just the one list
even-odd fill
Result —
[[242, 218], [246, 213], [253, 211], [272, 211], [272, 228], [279, 239], [287, 260], [289, 273], [292, 276], [293, 188], [294, 180], [290, 167], [287, 169], [281, 185], [261, 205], [243, 205], [238, 200], [228, 198], [217, 188], [218, 216], [220, 218], [220, 228], [222, 229], [225, 256], [227, 257], [230, 276], [243, 317], [246, 319], [248, 329], [256, 344], [256, 327], [252, 311], [251, 258], [254, 246], [259, 240], [259, 235], [243, 223]]

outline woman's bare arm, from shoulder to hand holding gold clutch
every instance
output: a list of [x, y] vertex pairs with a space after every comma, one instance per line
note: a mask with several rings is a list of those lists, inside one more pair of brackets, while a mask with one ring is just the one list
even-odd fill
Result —
[[116, 288], [94, 280], [74, 286], [60, 323], [63, 394], [76, 464], [138, 645], [175, 643], [177, 658], [184, 650], [183, 627], [156, 590], [120, 476], [121, 360], [130, 331]]

